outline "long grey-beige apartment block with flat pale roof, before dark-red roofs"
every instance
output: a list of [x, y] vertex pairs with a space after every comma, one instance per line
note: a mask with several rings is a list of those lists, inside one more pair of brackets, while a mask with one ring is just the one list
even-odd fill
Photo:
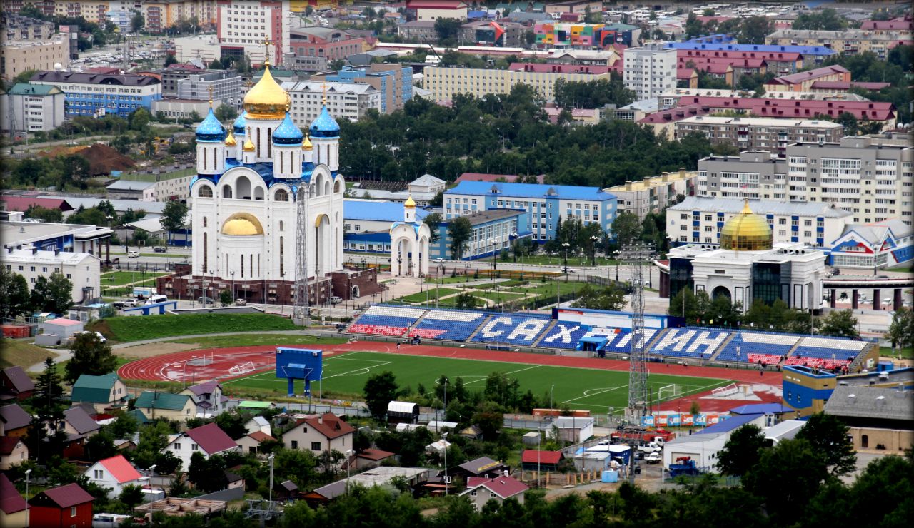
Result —
[[845, 127], [833, 121], [696, 115], [675, 122], [675, 139], [701, 133], [711, 144], [732, 144], [739, 150], [767, 151], [783, 157], [792, 143], [834, 143]]

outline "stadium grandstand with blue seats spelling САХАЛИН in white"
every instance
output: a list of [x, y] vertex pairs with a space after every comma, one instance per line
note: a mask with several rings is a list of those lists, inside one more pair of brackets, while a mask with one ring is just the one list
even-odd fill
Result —
[[[490, 349], [525, 347], [544, 351], [583, 351], [598, 357], [624, 357], [631, 346], [631, 328], [620, 313], [606, 312], [605, 326], [562, 320], [562, 311], [498, 313], [373, 305], [345, 329], [366, 336], [420, 338], [475, 343]], [[557, 318], [558, 317], [558, 318]], [[598, 311], [588, 311], [599, 321]], [[804, 365], [820, 369], [862, 368], [876, 359], [877, 343], [838, 337], [747, 332], [704, 327], [645, 328], [651, 361], [704, 364]]]

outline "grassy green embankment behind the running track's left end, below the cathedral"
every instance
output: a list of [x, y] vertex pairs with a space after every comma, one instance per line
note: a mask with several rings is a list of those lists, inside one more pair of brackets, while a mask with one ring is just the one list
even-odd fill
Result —
[[179, 335], [295, 330], [292, 320], [272, 313], [191, 313], [108, 317], [90, 323], [112, 341], [129, 343]]

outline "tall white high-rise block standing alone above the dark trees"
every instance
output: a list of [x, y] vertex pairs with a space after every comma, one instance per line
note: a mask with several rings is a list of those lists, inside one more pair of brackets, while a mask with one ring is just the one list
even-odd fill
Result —
[[676, 87], [676, 50], [659, 44], [628, 48], [622, 55], [625, 88], [634, 91], [638, 99], [659, 96]]

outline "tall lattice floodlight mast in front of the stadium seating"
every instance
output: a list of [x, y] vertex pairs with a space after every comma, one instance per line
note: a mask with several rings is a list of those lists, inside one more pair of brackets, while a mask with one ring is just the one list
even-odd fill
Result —
[[629, 342], [629, 399], [625, 419], [640, 426], [641, 418], [650, 409], [647, 388], [647, 343], [644, 342], [644, 278], [643, 263], [654, 258], [650, 246], [639, 243], [622, 247], [620, 258], [632, 264], [632, 339]]

